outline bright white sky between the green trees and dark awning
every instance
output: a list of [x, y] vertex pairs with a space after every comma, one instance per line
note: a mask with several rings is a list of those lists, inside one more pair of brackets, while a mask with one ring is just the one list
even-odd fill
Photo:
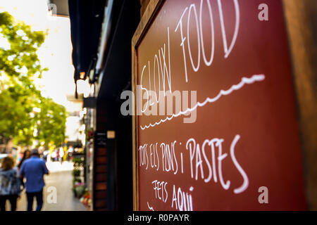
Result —
[[22, 20], [33, 30], [48, 30], [44, 44], [38, 51], [44, 72], [39, 84], [42, 94], [53, 98], [69, 111], [74, 110], [73, 103], [66, 99], [66, 94], [75, 93], [73, 80], [74, 68], [71, 53], [69, 18], [51, 17], [46, 0], [0, 0], [0, 12], [8, 11], [15, 20]]

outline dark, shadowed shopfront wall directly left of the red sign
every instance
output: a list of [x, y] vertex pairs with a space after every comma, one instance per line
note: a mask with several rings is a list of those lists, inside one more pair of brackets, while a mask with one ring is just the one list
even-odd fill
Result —
[[106, 134], [106, 146], [95, 147], [94, 210], [130, 211], [132, 118], [121, 115], [120, 95], [131, 89], [131, 40], [139, 24], [139, 0], [116, 0], [112, 12], [102, 66], [104, 76], [97, 94], [97, 131]]

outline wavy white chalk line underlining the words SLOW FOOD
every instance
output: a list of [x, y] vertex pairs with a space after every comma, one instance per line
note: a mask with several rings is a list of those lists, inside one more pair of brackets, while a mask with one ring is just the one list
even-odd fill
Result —
[[203, 103], [198, 102], [192, 108], [187, 108], [187, 110], [185, 110], [185, 111], [180, 111], [180, 113], [173, 114], [170, 117], [166, 117], [165, 119], [160, 120], [159, 122], [155, 122], [154, 124], [150, 123], [149, 125], [145, 125], [144, 127], [140, 126], [140, 127], [141, 127], [141, 129], [148, 129], [149, 127], [155, 127], [156, 125], [159, 125], [159, 124], [161, 124], [163, 122], [166, 122], [167, 120], [172, 120], [174, 117], [179, 117], [180, 115], [185, 115], [185, 114], [187, 114], [189, 112], [192, 112], [192, 111], [196, 110], [196, 108], [198, 106], [202, 107], [202, 106], [206, 105], [207, 103], [214, 103], [214, 102], [218, 101], [218, 99], [221, 96], [228, 96], [229, 94], [232, 93], [232, 91], [237, 91], [237, 90], [241, 89], [242, 86], [244, 86], [244, 84], [253, 84], [254, 82], [261, 82], [265, 78], [266, 78], [265, 75], [253, 75], [252, 77], [242, 77], [241, 82], [239, 84], [232, 85], [230, 87], [230, 89], [228, 89], [228, 90], [225, 90], [225, 91], [221, 90], [219, 92], [219, 94], [216, 97], [214, 97], [214, 98], [206, 98], [206, 100]]

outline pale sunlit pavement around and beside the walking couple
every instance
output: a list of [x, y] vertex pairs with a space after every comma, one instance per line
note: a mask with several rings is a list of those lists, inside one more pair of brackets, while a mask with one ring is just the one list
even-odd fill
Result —
[[[72, 162], [47, 162], [46, 163], [50, 174], [45, 175], [45, 187], [43, 192], [44, 205], [42, 211], [86, 211], [86, 207], [80, 203], [80, 200], [75, 198], [72, 191]], [[56, 187], [57, 203], [47, 203], [47, 195], [50, 193], [47, 188], [50, 186]], [[8, 209], [9, 209], [8, 205]], [[25, 191], [21, 194], [18, 200], [17, 211], [25, 211], [27, 200]], [[33, 208], [36, 207], [36, 201], [33, 203]]]

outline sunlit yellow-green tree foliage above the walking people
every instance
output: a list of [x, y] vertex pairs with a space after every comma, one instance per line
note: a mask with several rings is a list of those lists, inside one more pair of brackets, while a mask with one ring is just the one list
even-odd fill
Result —
[[37, 49], [45, 33], [0, 13], [0, 141], [30, 146], [34, 140], [59, 146], [65, 139], [66, 109], [41, 96], [34, 81], [42, 68]]

